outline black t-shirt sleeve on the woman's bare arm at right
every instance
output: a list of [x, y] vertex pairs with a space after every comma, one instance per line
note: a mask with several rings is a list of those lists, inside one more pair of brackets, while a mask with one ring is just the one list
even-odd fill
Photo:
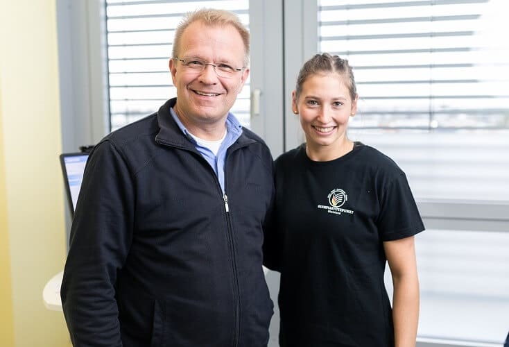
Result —
[[424, 230], [404, 173], [395, 176], [383, 192], [377, 225], [382, 241], [403, 239]]

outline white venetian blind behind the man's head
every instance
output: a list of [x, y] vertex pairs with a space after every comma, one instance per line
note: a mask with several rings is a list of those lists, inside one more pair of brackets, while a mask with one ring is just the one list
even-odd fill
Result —
[[[159, 109], [177, 96], [169, 73], [173, 35], [186, 12], [220, 8], [249, 24], [249, 1], [106, 1], [110, 124], [115, 130]], [[249, 80], [232, 112], [249, 126]]]

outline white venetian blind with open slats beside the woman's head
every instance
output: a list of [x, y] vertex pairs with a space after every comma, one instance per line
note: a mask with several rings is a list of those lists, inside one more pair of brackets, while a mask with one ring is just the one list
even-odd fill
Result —
[[348, 58], [352, 127], [509, 128], [503, 0], [319, 1], [320, 51]]

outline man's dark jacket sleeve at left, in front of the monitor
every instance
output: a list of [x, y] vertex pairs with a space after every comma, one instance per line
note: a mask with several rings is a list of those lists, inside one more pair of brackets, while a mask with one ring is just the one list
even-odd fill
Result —
[[132, 242], [134, 203], [125, 158], [101, 142], [85, 167], [60, 290], [74, 346], [122, 346], [114, 287]]

